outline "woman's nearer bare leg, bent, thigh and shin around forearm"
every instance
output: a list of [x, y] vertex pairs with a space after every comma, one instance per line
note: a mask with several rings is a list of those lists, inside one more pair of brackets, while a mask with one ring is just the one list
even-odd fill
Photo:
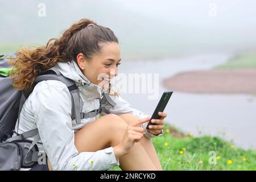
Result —
[[[98, 118], [75, 133], [79, 152], [95, 152], [117, 146], [123, 138], [127, 123], [115, 114]], [[122, 170], [157, 170], [141, 143], [135, 143], [129, 154], [119, 158]]]

